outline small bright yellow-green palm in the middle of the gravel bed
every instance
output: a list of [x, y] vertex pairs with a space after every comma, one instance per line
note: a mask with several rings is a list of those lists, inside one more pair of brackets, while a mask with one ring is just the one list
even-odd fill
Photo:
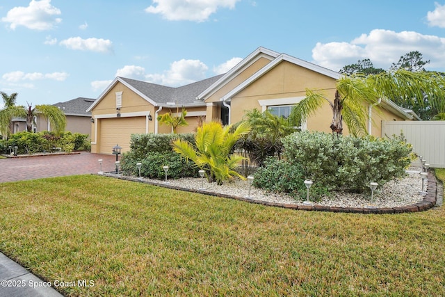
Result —
[[232, 125], [223, 127], [219, 122], [204, 123], [197, 129], [195, 145], [177, 139], [173, 141], [173, 150], [205, 170], [209, 182], [216, 181], [221, 185], [234, 176], [245, 179], [234, 170], [245, 158], [233, 154], [232, 148], [238, 138], [249, 133], [250, 124], [241, 122], [233, 132], [231, 128]]

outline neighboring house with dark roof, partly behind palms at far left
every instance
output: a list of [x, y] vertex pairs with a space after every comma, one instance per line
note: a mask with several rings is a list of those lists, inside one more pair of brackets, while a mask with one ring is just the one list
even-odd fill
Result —
[[[90, 135], [91, 113], [86, 110], [93, 102], [95, 102], [95, 99], [79, 97], [67, 102], [54, 104], [54, 106], [58, 106], [65, 113], [67, 119], [65, 131]], [[51, 131], [51, 125], [47, 118], [37, 116], [34, 118], [34, 121], [33, 132]], [[26, 120], [24, 118], [13, 118], [10, 129], [13, 134], [19, 131], [26, 131]]]

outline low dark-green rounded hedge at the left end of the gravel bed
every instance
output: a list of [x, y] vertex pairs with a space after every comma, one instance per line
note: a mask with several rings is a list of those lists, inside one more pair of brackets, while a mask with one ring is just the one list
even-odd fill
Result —
[[142, 163], [140, 174], [152, 179], [164, 179], [163, 166], [168, 166], [168, 178], [198, 177], [198, 168], [192, 161], [186, 161], [175, 152], [149, 152], [143, 159], [139, 159], [133, 152], [122, 154], [122, 172], [125, 175], [138, 176], [136, 163]]

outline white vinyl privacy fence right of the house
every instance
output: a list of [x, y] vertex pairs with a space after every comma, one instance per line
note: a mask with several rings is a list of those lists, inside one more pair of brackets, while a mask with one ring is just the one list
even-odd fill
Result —
[[[445, 168], [445, 121], [382, 122], [382, 137], [401, 133], [412, 144], [412, 151], [431, 167]], [[414, 165], [419, 165], [419, 159]]]

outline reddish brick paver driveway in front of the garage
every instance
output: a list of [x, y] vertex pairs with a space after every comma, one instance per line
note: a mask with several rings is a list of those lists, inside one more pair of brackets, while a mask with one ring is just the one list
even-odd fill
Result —
[[90, 152], [0, 159], [0, 182], [97, 173], [100, 170], [98, 159], [104, 160], [103, 171], [115, 169], [115, 155]]

